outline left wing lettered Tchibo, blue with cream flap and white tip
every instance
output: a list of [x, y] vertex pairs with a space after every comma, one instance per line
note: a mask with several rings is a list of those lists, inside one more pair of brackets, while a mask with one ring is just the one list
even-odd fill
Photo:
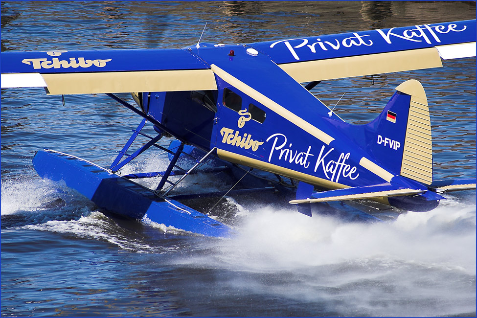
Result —
[[210, 67], [186, 49], [1, 52], [1, 87], [49, 94], [217, 90]]

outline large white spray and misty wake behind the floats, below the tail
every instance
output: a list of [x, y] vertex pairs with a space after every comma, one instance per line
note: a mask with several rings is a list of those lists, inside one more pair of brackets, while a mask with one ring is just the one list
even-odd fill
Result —
[[475, 313], [476, 207], [449, 198], [380, 224], [249, 211], [236, 237], [178, 262], [236, 273], [224, 289], [323, 302], [346, 316]]

